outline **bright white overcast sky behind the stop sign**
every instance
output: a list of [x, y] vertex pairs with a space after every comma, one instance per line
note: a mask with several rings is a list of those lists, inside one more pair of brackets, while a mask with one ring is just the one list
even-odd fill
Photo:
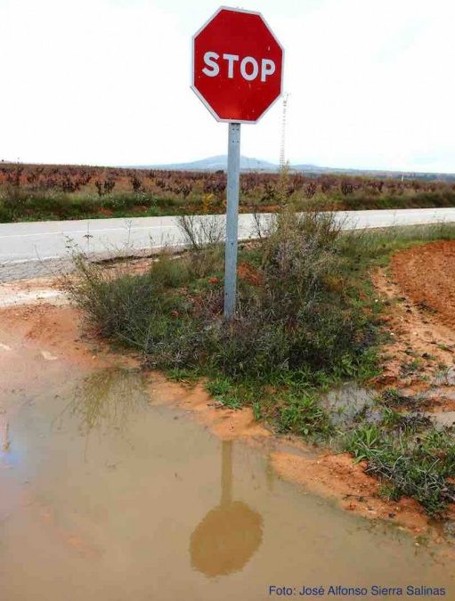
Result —
[[[226, 152], [190, 89], [208, 0], [0, 0], [0, 158], [170, 163]], [[286, 51], [286, 154], [455, 172], [453, 0], [249, 0]], [[277, 102], [242, 154], [278, 162]]]

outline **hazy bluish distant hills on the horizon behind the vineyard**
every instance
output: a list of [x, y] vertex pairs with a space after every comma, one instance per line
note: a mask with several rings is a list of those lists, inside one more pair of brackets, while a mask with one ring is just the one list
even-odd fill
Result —
[[[190, 163], [169, 163], [168, 165], [132, 165], [135, 169], [163, 169], [168, 171], [225, 171], [227, 169], [227, 155], [218, 155], [216, 157], [201, 158]], [[266, 173], [276, 173], [279, 166], [274, 163], [262, 160], [260, 158], [240, 157], [241, 171], [264, 171]], [[370, 177], [394, 177], [405, 179], [422, 180], [444, 180], [455, 181], [455, 174], [436, 174], [402, 171], [382, 171], [369, 169], [344, 169], [339, 167], [325, 167], [311, 164], [289, 165], [289, 171], [299, 172], [305, 175], [367, 175]]]

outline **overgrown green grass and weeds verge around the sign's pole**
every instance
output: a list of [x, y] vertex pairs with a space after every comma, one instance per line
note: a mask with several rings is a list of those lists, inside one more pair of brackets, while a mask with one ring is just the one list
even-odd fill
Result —
[[[383, 302], [370, 270], [396, 250], [441, 239], [455, 239], [455, 226], [348, 232], [332, 215], [285, 209], [267, 238], [240, 246], [239, 262], [254, 277], [239, 280], [232, 322], [223, 319], [215, 234], [207, 247], [193, 236], [191, 250], [164, 253], [143, 274], [76, 256], [68, 288], [103, 336], [140, 350], [148, 366], [178, 381], [204, 378], [215, 401], [249, 406], [277, 432], [344, 446], [394, 497], [409, 495], [438, 515], [449, 499], [443, 479], [454, 475], [450, 432], [441, 437], [427, 418], [403, 413], [410, 400], [394, 389], [378, 399], [380, 423], [367, 411], [335, 426], [321, 399], [330, 386], [380, 373]], [[419, 367], [412, 358], [403, 369]], [[433, 461], [439, 443], [446, 454]]]

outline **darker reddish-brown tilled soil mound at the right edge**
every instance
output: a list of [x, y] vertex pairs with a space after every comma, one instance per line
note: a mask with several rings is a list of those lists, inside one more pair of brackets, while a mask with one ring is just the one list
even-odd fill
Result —
[[408, 248], [391, 262], [394, 280], [402, 291], [439, 321], [455, 325], [455, 240]]

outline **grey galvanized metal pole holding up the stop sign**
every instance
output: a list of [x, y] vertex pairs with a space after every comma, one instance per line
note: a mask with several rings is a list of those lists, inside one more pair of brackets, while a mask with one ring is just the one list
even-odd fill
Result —
[[224, 317], [232, 320], [237, 289], [239, 225], [240, 123], [229, 124], [226, 248], [224, 258]]

